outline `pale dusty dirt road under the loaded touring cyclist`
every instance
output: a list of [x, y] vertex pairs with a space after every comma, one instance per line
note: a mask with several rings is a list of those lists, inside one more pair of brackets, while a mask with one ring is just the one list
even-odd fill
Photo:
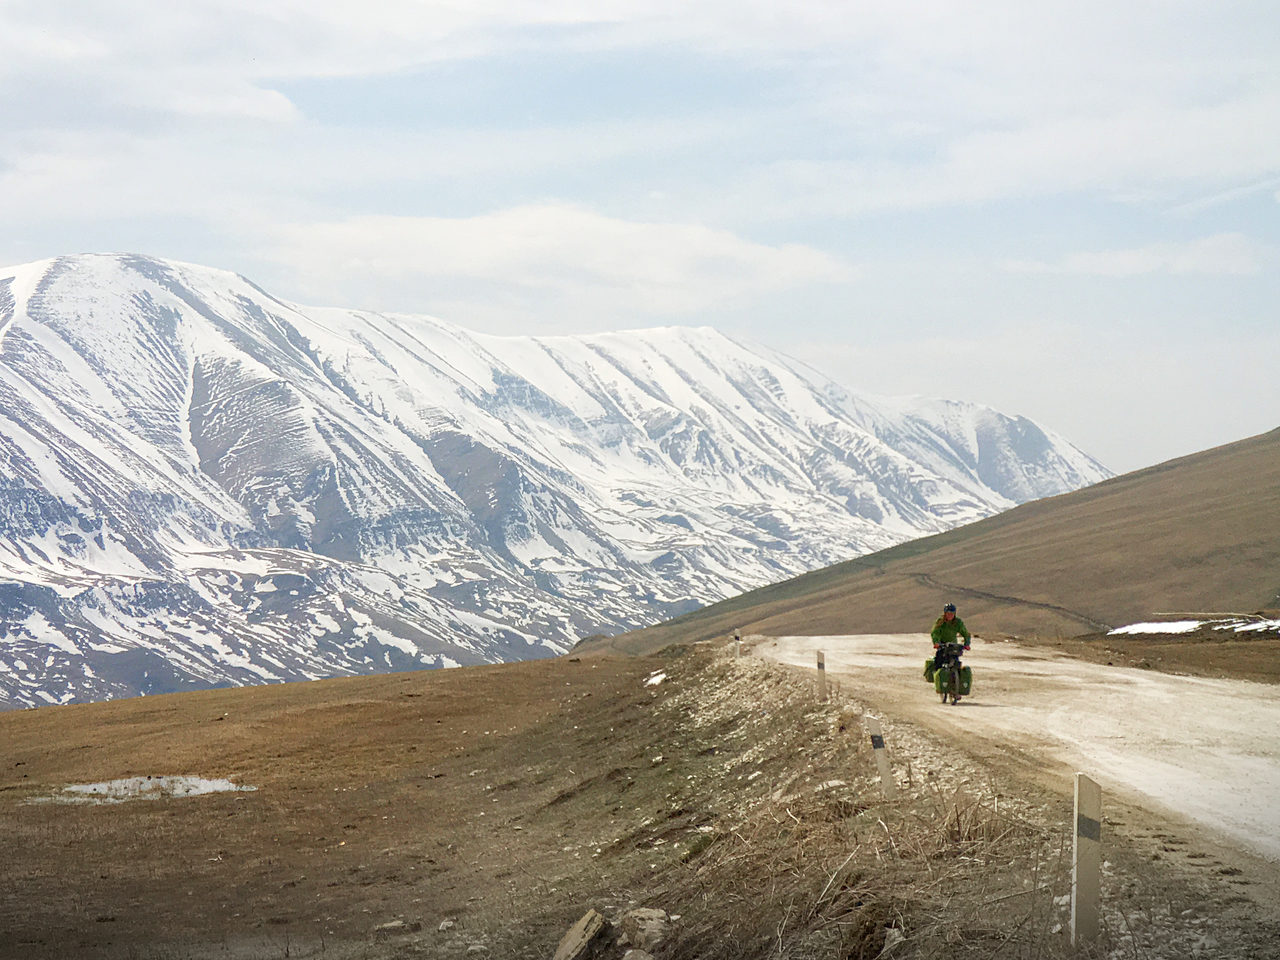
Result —
[[[763, 640], [758, 655], [858, 677], [858, 695], [940, 736], [1079, 771], [1157, 817], [1194, 822], [1280, 873], [1280, 696], [1274, 685], [1108, 667], [975, 640], [973, 696], [943, 707], [923, 677], [925, 634]], [[817, 676], [817, 675], [815, 675]], [[1263, 864], [1266, 868], [1266, 863]]]

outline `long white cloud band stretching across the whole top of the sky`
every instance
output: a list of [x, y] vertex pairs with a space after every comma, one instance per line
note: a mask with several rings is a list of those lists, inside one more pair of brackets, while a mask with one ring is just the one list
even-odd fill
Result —
[[844, 87], [832, 108], [846, 113], [963, 127], [1274, 87], [1266, 24], [1275, 19], [1267, 3], [1242, 0], [1224, 0], [1211, 18], [1194, 5], [1103, 0], [795, 0], [786, 12], [774, 0], [12, 0], [0, 74], [60, 68], [109, 84], [150, 78], [163, 100], [175, 78], [269, 86], [516, 50], [675, 46], [818, 69], [817, 92]]

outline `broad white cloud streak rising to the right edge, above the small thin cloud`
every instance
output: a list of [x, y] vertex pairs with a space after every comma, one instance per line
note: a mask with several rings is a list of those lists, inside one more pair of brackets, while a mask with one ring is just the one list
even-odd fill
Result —
[[[858, 218], [1080, 193], [1166, 206], [1188, 191], [1274, 178], [1280, 87], [1213, 106], [1116, 104], [914, 140], [849, 159], [788, 157], [740, 169], [709, 198], [712, 215], [737, 223]], [[741, 204], [744, 196], [753, 202]]]

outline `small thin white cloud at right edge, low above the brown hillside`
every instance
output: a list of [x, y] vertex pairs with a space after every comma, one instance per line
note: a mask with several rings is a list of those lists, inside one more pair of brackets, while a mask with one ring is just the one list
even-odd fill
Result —
[[1092, 276], [1146, 276], [1148, 274], [1201, 274], [1249, 276], [1280, 266], [1280, 251], [1239, 233], [1221, 233], [1188, 243], [1152, 243], [1128, 250], [1071, 253], [1056, 262], [1011, 260], [1011, 273], [1079, 274]]

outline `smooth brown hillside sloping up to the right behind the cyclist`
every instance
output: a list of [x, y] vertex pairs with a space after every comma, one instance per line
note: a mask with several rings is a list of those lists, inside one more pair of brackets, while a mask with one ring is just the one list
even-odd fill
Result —
[[581, 649], [744, 634], [1075, 636], [1169, 611], [1280, 605], [1280, 430], [1028, 503]]

